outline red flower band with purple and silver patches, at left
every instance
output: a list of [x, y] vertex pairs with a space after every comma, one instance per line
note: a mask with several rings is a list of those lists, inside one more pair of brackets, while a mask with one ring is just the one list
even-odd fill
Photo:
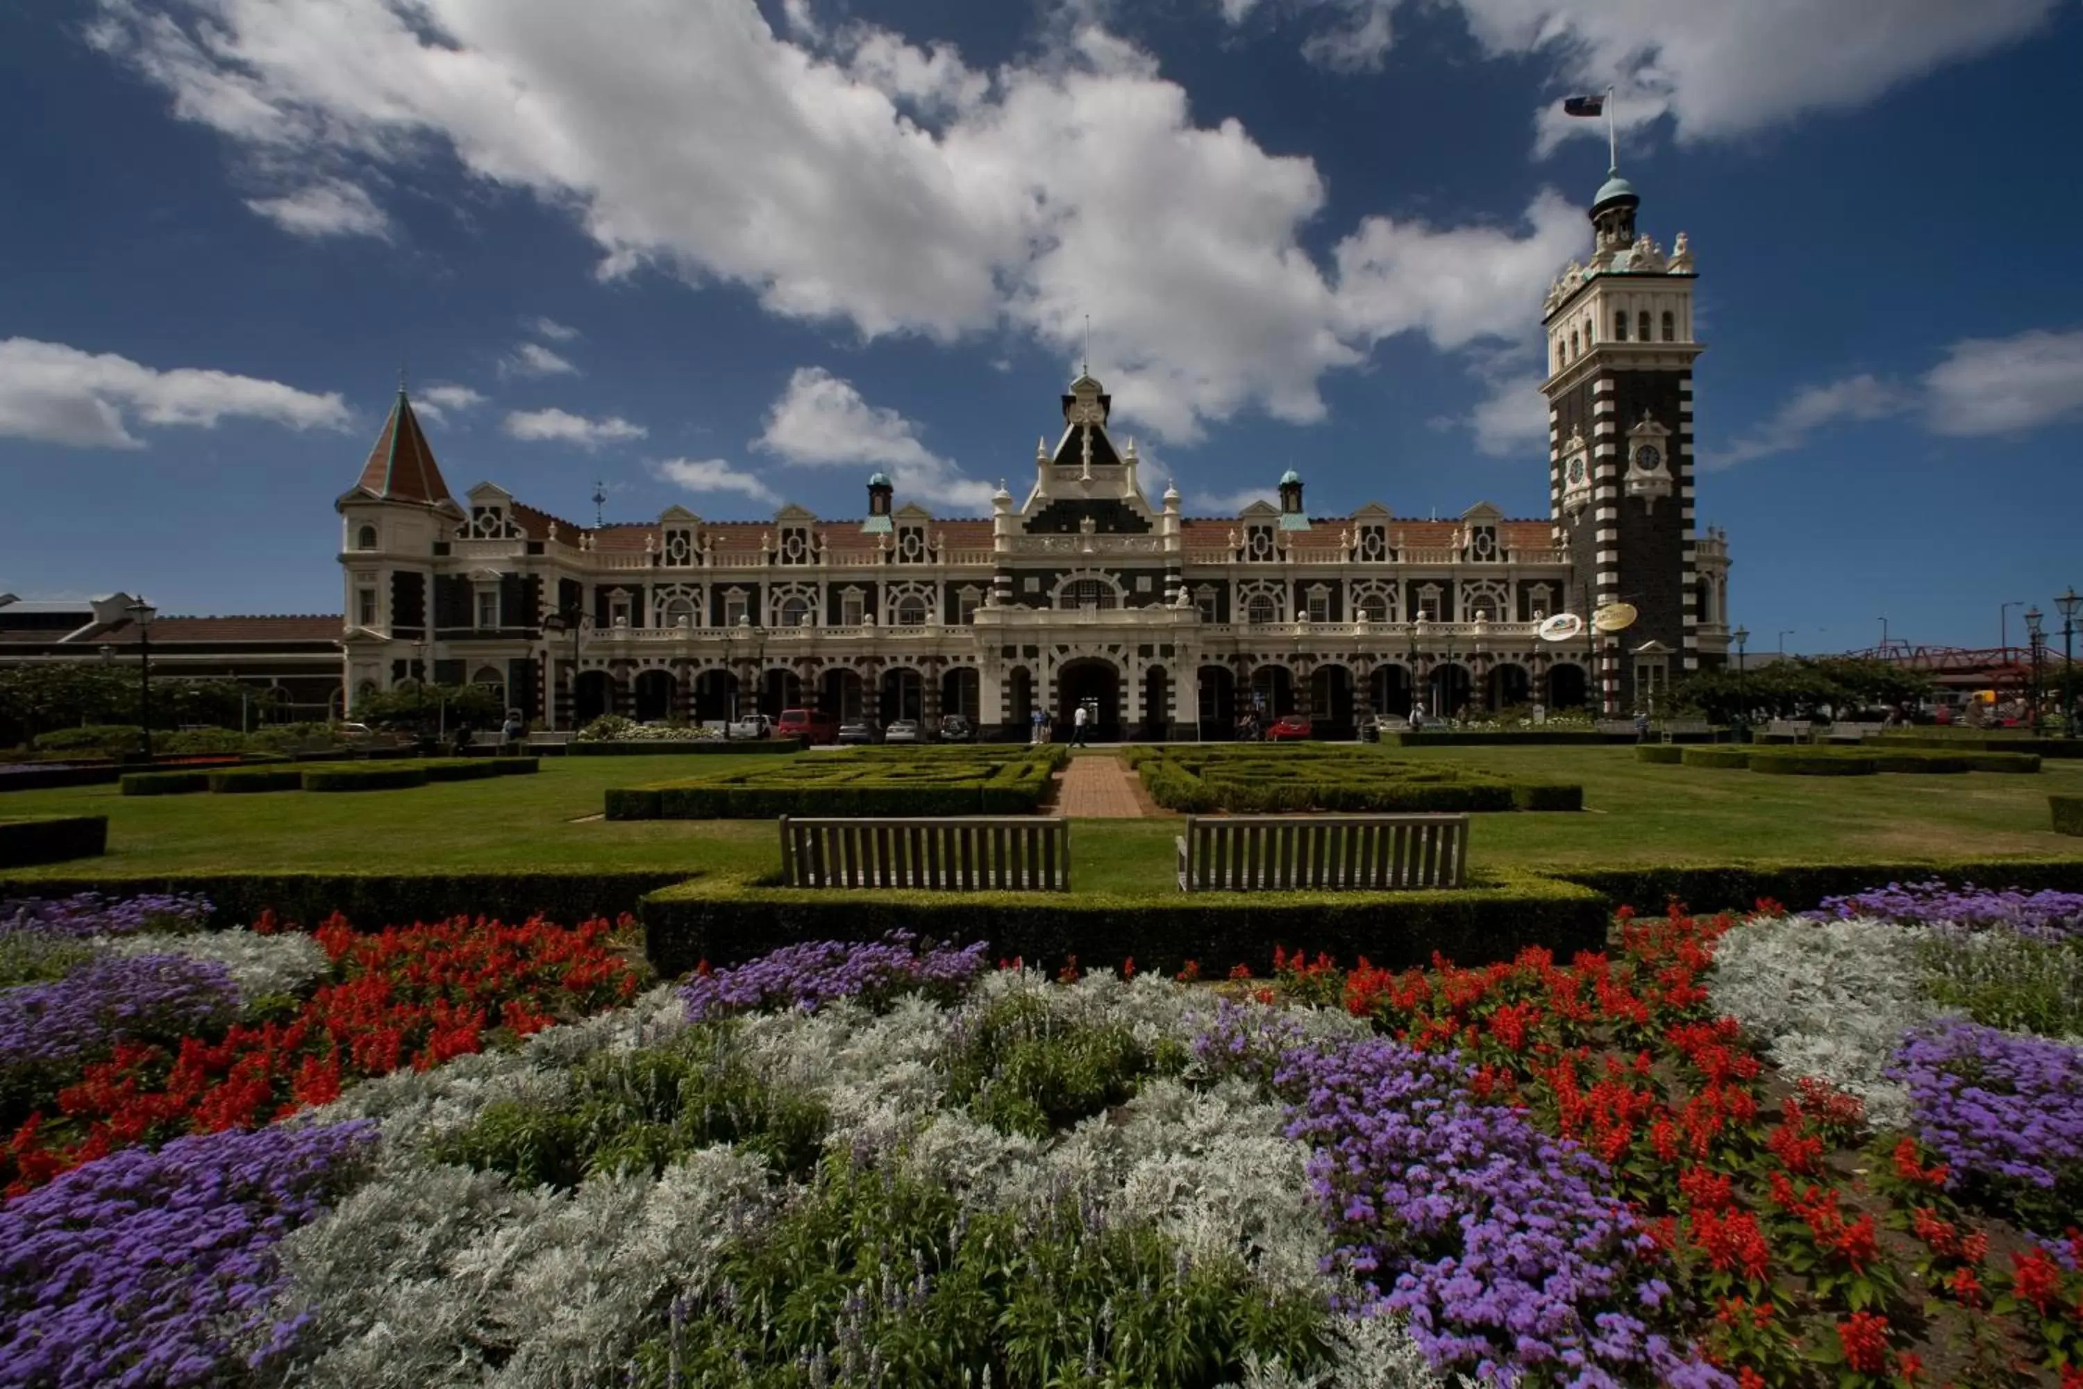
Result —
[[527, 1037], [637, 987], [606, 920], [152, 931], [206, 914], [179, 900], [0, 908], [0, 960], [21, 981], [0, 989], [8, 1195], [123, 1147], [262, 1125], [356, 1077]]

